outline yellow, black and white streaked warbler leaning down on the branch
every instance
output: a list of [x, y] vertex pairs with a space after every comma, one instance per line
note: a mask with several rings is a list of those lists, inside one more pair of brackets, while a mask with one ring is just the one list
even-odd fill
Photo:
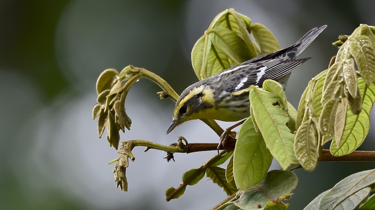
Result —
[[285, 89], [290, 72], [310, 58], [298, 59], [307, 46], [327, 27], [313, 28], [291, 46], [252, 58], [187, 87], [178, 98], [166, 134], [188, 120], [239, 121], [250, 116], [249, 96], [231, 93], [263, 81], [278, 81]]

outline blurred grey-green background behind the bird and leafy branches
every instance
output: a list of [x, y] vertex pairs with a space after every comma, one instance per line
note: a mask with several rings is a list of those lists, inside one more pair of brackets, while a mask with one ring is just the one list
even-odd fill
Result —
[[[132, 64], [165, 78], [178, 93], [197, 81], [190, 63], [195, 41], [217, 13], [234, 8], [266, 25], [281, 47], [313, 27], [328, 28], [306, 49], [311, 60], [293, 72], [288, 100], [297, 107], [308, 81], [327, 68], [338, 35], [359, 24], [375, 25], [374, 1], [0, 1], [0, 207], [1, 209], [210, 209], [226, 198], [210, 181], [188, 186], [180, 199], [165, 201], [165, 189], [178, 186], [184, 171], [199, 167], [212, 152], [176, 154], [134, 149], [127, 170], [129, 192], [115, 189], [118, 157], [98, 139], [92, 107], [95, 83], [107, 68]], [[168, 136], [173, 102], [159, 100], [159, 87], [139, 81], [126, 111], [132, 129], [121, 140], [170, 144], [217, 142], [200, 121]], [[374, 112], [371, 114], [374, 118]], [[231, 123], [220, 123], [228, 127]], [[359, 148], [375, 150], [374, 124]], [[272, 165], [277, 169], [277, 163]], [[373, 163], [322, 163], [315, 172], [296, 171], [299, 184], [289, 209], [303, 209], [344, 177], [374, 168]]]

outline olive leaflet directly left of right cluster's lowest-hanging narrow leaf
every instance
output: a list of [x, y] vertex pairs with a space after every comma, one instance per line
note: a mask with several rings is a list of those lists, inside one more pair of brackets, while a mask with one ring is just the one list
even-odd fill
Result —
[[329, 99], [324, 105], [319, 117], [320, 132], [333, 136], [335, 133], [335, 117], [340, 99]]

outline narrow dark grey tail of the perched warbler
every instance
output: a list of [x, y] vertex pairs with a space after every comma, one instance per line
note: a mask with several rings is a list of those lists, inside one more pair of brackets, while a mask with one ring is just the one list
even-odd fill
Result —
[[296, 42], [296, 44], [293, 44], [290, 46], [287, 52], [280, 55], [280, 58], [287, 58], [287, 59], [296, 59], [298, 56], [303, 52], [303, 50], [306, 49], [309, 44], [311, 44], [312, 41], [314, 41], [315, 38], [325, 29], [327, 28], [327, 25], [323, 25], [319, 28], [313, 28], [308, 33], [303, 35], [300, 40]]

